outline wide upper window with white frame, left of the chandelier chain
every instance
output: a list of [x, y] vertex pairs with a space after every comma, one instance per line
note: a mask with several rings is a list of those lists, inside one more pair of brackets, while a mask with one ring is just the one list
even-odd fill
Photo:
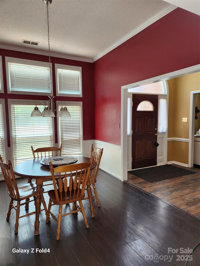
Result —
[[49, 63], [6, 57], [8, 93], [49, 94]]

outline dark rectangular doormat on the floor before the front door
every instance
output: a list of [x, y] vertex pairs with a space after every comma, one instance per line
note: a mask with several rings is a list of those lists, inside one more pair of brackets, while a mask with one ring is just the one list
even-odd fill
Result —
[[143, 168], [143, 169], [138, 169], [138, 170], [132, 170], [128, 172], [150, 183], [196, 173], [196, 172], [185, 170], [183, 168], [176, 167], [170, 164], [165, 164], [165, 165], [156, 166], [156, 167]]

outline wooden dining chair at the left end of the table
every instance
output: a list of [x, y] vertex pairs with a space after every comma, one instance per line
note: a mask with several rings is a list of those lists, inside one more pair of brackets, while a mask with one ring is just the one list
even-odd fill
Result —
[[[1, 155], [0, 155], [0, 167], [1, 167], [1, 171], [3, 174], [4, 180], [5, 180], [6, 185], [8, 187], [8, 194], [11, 198], [6, 220], [9, 221], [11, 209], [16, 210], [15, 234], [17, 234], [18, 233], [18, 226], [19, 226], [19, 218], [35, 214], [35, 211], [33, 211], [31, 213], [27, 213], [25, 215], [19, 216], [20, 206], [25, 205], [25, 209], [28, 209], [29, 208], [29, 202], [35, 201], [35, 197], [36, 197], [36, 193], [37, 193], [36, 184], [35, 183], [31, 183], [31, 184], [24, 183], [20, 186], [17, 186], [17, 181], [16, 181], [16, 178], [15, 178], [15, 175], [13, 172], [11, 161], [8, 160], [8, 164], [3, 163]], [[30, 200], [31, 197], [33, 197], [32, 200]], [[25, 200], [25, 202], [21, 203], [21, 201], [24, 201], [24, 200]], [[13, 201], [17, 201], [16, 206], [13, 204]], [[41, 196], [41, 201], [42, 201], [43, 205], [45, 204], [44, 209], [42, 209], [42, 210], [45, 210], [47, 212], [47, 207], [46, 207], [46, 203], [44, 201], [43, 196]], [[40, 211], [42, 211], [42, 210], [40, 210]]]

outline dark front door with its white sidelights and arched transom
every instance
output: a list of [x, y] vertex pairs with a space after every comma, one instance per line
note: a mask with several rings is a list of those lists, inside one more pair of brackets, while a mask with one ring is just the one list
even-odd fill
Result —
[[128, 89], [128, 170], [167, 163], [167, 114], [167, 81]]

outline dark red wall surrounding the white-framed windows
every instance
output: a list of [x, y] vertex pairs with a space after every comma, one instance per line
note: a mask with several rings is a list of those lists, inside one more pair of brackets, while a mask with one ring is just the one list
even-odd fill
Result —
[[[22, 95], [22, 94], [8, 94], [6, 83], [6, 69], [5, 69], [5, 56], [23, 58], [29, 60], [45, 61], [48, 62], [48, 56], [41, 56], [17, 51], [10, 51], [0, 49], [0, 55], [2, 56], [3, 65], [3, 83], [4, 94], [0, 94], [0, 98], [5, 99], [6, 105], [6, 121], [7, 121], [7, 133], [8, 133], [8, 147], [10, 147], [10, 134], [9, 134], [9, 121], [8, 121], [8, 99], [41, 99], [47, 101], [47, 96], [37, 95]], [[63, 58], [51, 57], [52, 73], [53, 73], [53, 95], [54, 101], [82, 101], [83, 102], [83, 140], [94, 139], [94, 84], [93, 84], [93, 64], [82, 61], [68, 60]], [[56, 81], [55, 81], [55, 67], [54, 64], [63, 65], [75, 65], [82, 67], [82, 90], [83, 97], [63, 97], [56, 96]], [[55, 118], [55, 143], [57, 139], [57, 123]]]

